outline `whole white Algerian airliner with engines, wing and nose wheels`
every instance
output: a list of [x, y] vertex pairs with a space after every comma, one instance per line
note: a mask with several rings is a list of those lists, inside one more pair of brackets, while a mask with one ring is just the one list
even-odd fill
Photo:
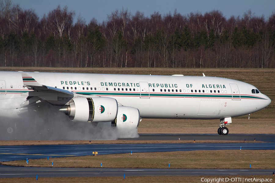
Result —
[[232, 117], [254, 113], [271, 102], [251, 84], [204, 74], [0, 72], [0, 87], [1, 118], [20, 118], [48, 102], [73, 121], [111, 121], [125, 130], [136, 129], [142, 118], [219, 119], [218, 134], [227, 135], [225, 126]]

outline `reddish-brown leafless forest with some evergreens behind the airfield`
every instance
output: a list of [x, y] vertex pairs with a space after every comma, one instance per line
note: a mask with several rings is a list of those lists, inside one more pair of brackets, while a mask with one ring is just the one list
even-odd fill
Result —
[[87, 23], [66, 6], [39, 19], [0, 0], [0, 66], [275, 68], [274, 47], [275, 12], [146, 17], [122, 8]]

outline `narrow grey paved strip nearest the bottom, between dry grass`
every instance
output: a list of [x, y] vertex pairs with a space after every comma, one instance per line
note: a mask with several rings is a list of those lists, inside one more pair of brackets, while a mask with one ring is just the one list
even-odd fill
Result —
[[148, 168], [36, 168], [0, 165], [0, 178], [18, 177], [126, 177], [129, 176], [228, 176], [272, 175], [274, 170], [148, 169]]

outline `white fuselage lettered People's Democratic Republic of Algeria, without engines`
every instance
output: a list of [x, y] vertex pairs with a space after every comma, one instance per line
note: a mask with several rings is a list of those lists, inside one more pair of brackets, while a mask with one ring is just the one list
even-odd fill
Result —
[[[254, 113], [271, 100], [232, 79], [201, 76], [28, 73], [42, 85], [84, 95], [110, 97], [137, 108], [141, 118], [221, 119]], [[0, 72], [0, 115], [16, 117], [24, 87], [22, 72]], [[4, 86], [5, 85], [5, 86]], [[11, 115], [11, 113], [9, 113]]]

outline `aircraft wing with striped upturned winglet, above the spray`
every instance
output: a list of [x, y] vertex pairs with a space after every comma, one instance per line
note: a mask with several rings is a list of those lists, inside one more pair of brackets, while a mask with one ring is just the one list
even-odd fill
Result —
[[22, 73], [22, 79], [23, 84], [31, 90], [22, 94], [22, 96], [28, 97], [27, 101], [31, 99], [31, 97], [36, 97], [36, 99], [42, 99], [52, 105], [63, 106], [74, 97], [74, 93], [71, 91], [39, 84], [28, 73]]

